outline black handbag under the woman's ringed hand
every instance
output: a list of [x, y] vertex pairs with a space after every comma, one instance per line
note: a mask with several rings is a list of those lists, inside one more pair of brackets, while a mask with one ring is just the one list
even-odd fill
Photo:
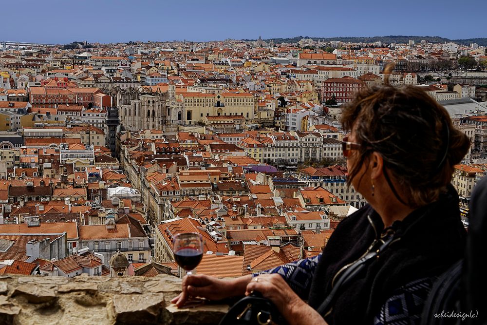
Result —
[[277, 307], [260, 292], [254, 291], [228, 309], [219, 325], [286, 325]]

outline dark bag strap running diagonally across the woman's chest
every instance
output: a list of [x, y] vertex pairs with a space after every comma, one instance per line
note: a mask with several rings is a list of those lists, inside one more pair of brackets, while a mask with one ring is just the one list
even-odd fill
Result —
[[[364, 268], [368, 267], [375, 259], [377, 259], [382, 253], [384, 249], [386, 249], [391, 242], [393, 241], [393, 236], [389, 236], [382, 245], [376, 249], [375, 251], [366, 253], [364, 256], [353, 262], [353, 264], [348, 267], [338, 278], [337, 283], [335, 286], [333, 286], [332, 291], [330, 294], [326, 297], [325, 301], [321, 303], [321, 305], [318, 307], [317, 311], [321, 316], [326, 316], [331, 311], [332, 305], [335, 303], [335, 300], [337, 298], [337, 292], [338, 290], [347, 285], [350, 281], [352, 281], [360, 271], [362, 271]], [[374, 245], [372, 245], [370, 250], [373, 249]]]

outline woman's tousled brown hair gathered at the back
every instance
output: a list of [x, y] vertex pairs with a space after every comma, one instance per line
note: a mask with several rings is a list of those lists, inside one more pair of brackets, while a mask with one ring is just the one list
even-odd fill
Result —
[[[445, 108], [416, 86], [365, 88], [344, 106], [341, 122], [361, 145], [349, 184], [369, 154], [378, 152], [391, 190], [411, 207], [437, 200], [451, 181], [453, 166], [470, 148], [467, 135], [453, 127]], [[398, 195], [391, 175], [407, 197]]]

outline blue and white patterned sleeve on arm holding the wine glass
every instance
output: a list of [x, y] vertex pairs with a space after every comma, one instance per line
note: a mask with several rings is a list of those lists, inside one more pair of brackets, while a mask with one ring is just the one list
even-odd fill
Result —
[[313, 281], [313, 275], [315, 274], [315, 268], [317, 267], [320, 258], [321, 254], [315, 257], [287, 263], [276, 268], [271, 268], [267, 271], [253, 273], [252, 276], [255, 277], [264, 273], [277, 273], [284, 278], [289, 287], [291, 287], [298, 296], [303, 299], [308, 299], [311, 282]]

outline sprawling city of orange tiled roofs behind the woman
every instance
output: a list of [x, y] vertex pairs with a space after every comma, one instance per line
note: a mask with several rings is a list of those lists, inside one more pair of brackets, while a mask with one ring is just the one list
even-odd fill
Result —
[[470, 139], [451, 182], [468, 228], [487, 38], [247, 37], [1, 36], [0, 273], [183, 278], [173, 244], [188, 232], [203, 243], [193, 274], [316, 257], [367, 204], [347, 182], [343, 106], [385, 82], [424, 91]]

